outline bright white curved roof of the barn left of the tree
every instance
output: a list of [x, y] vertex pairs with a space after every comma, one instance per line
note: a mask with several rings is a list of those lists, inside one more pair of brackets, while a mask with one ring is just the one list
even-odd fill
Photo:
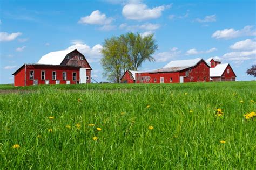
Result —
[[60, 65], [64, 60], [65, 56], [75, 51], [75, 49], [66, 49], [62, 51], [50, 52], [41, 57], [41, 59], [37, 62], [38, 64], [44, 65]]

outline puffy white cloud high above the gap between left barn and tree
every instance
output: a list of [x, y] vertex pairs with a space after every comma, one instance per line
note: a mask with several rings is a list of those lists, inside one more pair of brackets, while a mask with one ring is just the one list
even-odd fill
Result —
[[107, 18], [105, 13], [99, 10], [93, 11], [90, 16], [81, 17], [78, 23], [91, 25], [108, 25], [112, 22], [112, 18]]

